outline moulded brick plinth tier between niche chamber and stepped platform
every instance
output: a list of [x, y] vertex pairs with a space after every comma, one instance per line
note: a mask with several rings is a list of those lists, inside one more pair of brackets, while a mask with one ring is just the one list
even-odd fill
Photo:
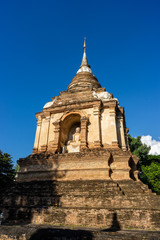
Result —
[[[131, 161], [132, 159], [132, 161]], [[132, 164], [130, 164], [132, 162]], [[127, 180], [136, 179], [136, 163], [130, 152], [121, 149], [85, 149], [80, 153], [30, 155], [18, 161], [17, 181], [34, 180]]]

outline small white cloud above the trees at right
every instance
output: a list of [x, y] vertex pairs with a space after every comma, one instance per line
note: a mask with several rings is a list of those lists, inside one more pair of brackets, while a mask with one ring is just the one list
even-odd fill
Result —
[[[159, 138], [160, 139], [160, 138]], [[159, 155], [160, 154], [160, 141], [156, 141], [155, 139], [152, 139], [152, 136], [142, 136], [141, 142], [146, 144], [147, 146], [151, 147], [151, 150], [149, 151], [149, 154], [153, 155]]]

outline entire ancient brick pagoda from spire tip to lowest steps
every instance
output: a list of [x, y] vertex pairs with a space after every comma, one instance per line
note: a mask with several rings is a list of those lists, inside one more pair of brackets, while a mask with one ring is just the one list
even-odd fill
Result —
[[86, 57], [67, 91], [36, 114], [33, 154], [20, 159], [6, 221], [160, 229], [159, 197], [138, 180], [124, 108]]

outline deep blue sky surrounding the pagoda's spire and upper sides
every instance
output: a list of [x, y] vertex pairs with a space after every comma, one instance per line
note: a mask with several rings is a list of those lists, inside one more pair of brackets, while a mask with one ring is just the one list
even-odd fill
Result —
[[32, 152], [35, 113], [67, 89], [87, 38], [94, 75], [125, 107], [132, 136], [160, 137], [160, 1], [0, 3], [0, 149]]

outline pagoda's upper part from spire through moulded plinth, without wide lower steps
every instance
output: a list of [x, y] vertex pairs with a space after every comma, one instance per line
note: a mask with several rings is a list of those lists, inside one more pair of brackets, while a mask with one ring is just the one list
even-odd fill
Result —
[[[18, 181], [136, 177], [124, 108], [93, 75], [85, 42], [80, 69], [67, 91], [53, 97], [36, 117], [35, 155], [19, 161]], [[39, 158], [45, 152], [52, 155], [51, 161]]]

